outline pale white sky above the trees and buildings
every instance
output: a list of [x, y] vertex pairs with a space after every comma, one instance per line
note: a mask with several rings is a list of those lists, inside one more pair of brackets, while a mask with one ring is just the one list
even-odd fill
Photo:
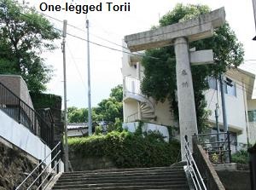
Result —
[[[71, 11], [40, 10], [40, 4], [45, 3], [64, 6], [65, 3], [99, 4], [102, 11], [89, 12], [90, 41], [112, 49], [90, 43], [90, 83], [91, 104], [97, 103], [109, 96], [110, 90], [122, 83], [122, 40], [125, 35], [148, 31], [158, 25], [161, 16], [172, 10], [177, 3], [206, 4], [212, 10], [224, 7], [226, 20], [236, 33], [238, 41], [245, 49], [245, 62], [241, 66], [246, 71], [256, 74], [256, 35], [252, 0], [26, 0], [29, 6], [34, 6], [38, 12], [47, 14], [54, 26], [62, 30], [61, 20], [67, 20], [67, 33], [86, 39], [85, 14]], [[121, 5], [130, 3], [130, 11], [108, 11], [107, 2]], [[111, 4], [111, 5], [113, 5]], [[60, 21], [57, 21], [60, 20]], [[71, 25], [71, 26], [70, 26]], [[87, 43], [83, 39], [67, 35], [67, 107], [87, 107]], [[111, 43], [109, 43], [111, 42]], [[115, 45], [118, 44], [118, 45]], [[58, 49], [44, 52], [45, 63], [52, 66], [54, 76], [48, 84], [47, 93], [63, 96], [63, 60], [61, 40], [56, 40]]]

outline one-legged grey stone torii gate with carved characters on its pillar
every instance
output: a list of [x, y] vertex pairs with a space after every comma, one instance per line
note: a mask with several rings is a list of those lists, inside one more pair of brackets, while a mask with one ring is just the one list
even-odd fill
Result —
[[[192, 145], [192, 135], [198, 134], [195, 97], [190, 62], [196, 65], [213, 62], [212, 50], [189, 53], [189, 42], [212, 37], [213, 29], [225, 21], [224, 8], [201, 14], [199, 17], [148, 32], [125, 36], [125, 43], [131, 52], [174, 45], [176, 55], [177, 101], [182, 159], [185, 159], [183, 136], [188, 135]], [[192, 146], [190, 146], [192, 148]]]

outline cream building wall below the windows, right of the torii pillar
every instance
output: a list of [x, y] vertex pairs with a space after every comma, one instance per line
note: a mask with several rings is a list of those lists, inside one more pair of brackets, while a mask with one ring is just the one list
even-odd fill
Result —
[[[234, 82], [237, 82], [236, 79], [231, 78]], [[220, 127], [223, 128], [223, 112], [222, 112], [222, 103], [220, 92], [217, 92], [215, 89], [208, 89], [205, 93], [207, 100], [207, 108], [212, 111], [212, 114], [209, 117], [209, 121], [212, 124], [215, 124], [215, 113], [216, 103], [218, 102], [219, 107], [219, 117], [218, 122]], [[217, 99], [218, 95], [218, 99]], [[229, 124], [229, 130], [238, 132], [237, 141], [242, 143], [247, 143], [247, 133], [246, 133], [246, 107], [244, 104], [244, 98], [247, 100], [247, 97], [244, 97], [243, 91], [241, 88], [238, 88], [236, 85], [236, 96], [234, 95], [225, 95], [226, 101], [226, 113], [227, 113], [227, 122]]]

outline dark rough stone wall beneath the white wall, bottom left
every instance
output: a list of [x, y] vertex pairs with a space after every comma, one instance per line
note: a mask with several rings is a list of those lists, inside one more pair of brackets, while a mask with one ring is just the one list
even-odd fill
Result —
[[[27, 155], [8, 141], [0, 139], [0, 190], [11, 190], [17, 187], [37, 164], [38, 161], [35, 158]], [[36, 176], [32, 176], [26, 185], [35, 178]], [[26, 187], [20, 189], [23, 190]]]

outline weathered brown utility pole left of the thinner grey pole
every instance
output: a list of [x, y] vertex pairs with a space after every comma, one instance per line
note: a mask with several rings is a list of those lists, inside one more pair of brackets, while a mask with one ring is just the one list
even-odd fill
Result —
[[64, 76], [64, 128], [65, 128], [65, 171], [68, 171], [68, 145], [67, 145], [67, 77], [66, 77], [66, 37], [67, 20], [63, 20], [62, 53], [63, 53], [63, 76]]

